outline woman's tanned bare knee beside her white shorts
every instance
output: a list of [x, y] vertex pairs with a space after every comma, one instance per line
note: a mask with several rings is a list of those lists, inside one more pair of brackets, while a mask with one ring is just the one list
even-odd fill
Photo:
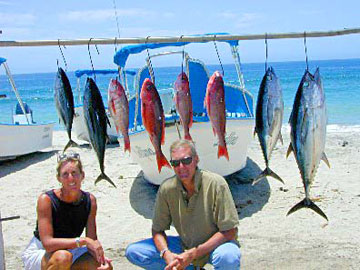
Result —
[[72, 254], [67, 250], [57, 250], [45, 254], [41, 261], [41, 270], [70, 270]]

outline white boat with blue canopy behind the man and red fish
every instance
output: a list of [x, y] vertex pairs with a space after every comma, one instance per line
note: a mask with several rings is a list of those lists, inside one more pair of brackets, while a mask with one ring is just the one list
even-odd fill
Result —
[[[246, 165], [247, 149], [252, 138], [254, 128], [253, 96], [244, 87], [243, 77], [240, 69], [240, 58], [237, 50], [237, 41], [226, 41], [229, 43], [233, 58], [235, 59], [235, 68], [238, 75], [239, 85], [228, 84], [225, 82], [225, 104], [226, 104], [226, 143], [230, 160], [224, 157], [217, 158], [217, 137], [214, 136], [211, 123], [203, 106], [206, 93], [206, 86], [209, 79], [209, 72], [205, 65], [197, 59], [191, 58], [186, 52], [163, 52], [152, 55], [146, 59], [146, 65], [139, 69], [134, 81], [134, 89], [129, 91], [128, 80], [125, 72], [125, 63], [129, 55], [136, 54], [144, 50], [163, 48], [167, 46], [183, 46], [187, 43], [158, 44], [149, 43], [141, 45], [131, 45], [123, 47], [114, 56], [114, 62], [119, 66], [119, 74], [125, 89], [128, 90], [129, 99], [129, 135], [131, 143], [131, 157], [137, 162], [144, 173], [145, 179], [149, 182], [159, 185], [166, 178], [172, 176], [173, 170], [163, 167], [159, 173], [155, 157], [154, 148], [150, 142], [149, 135], [142, 125], [140, 90], [145, 78], [154, 78], [154, 71], [151, 65], [151, 58], [165, 56], [174, 53], [184, 55], [185, 70], [190, 83], [190, 91], [193, 102], [194, 123], [190, 129], [191, 136], [196, 144], [199, 154], [199, 167], [205, 170], [216, 172], [226, 176], [232, 174]], [[174, 78], [174, 81], [176, 77]], [[166, 129], [165, 144], [162, 151], [170, 159], [169, 148], [173, 141], [183, 134], [182, 127], [175, 124], [179, 117], [175, 112], [173, 103], [173, 89], [159, 89], [160, 98], [163, 103]], [[74, 130], [82, 130], [78, 136], [83, 138], [87, 135], [82, 116], [82, 105], [77, 106], [78, 121], [74, 122]], [[110, 120], [111, 121], [111, 120]], [[178, 127], [178, 128], [177, 128]], [[178, 130], [179, 129], [179, 130]], [[115, 130], [110, 129], [109, 135], [118, 136]], [[120, 138], [121, 136], [119, 136]], [[119, 140], [122, 143], [122, 140]]]

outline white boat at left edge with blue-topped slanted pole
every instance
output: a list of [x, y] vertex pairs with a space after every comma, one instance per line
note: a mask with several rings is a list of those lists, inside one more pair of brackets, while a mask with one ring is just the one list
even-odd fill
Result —
[[14, 159], [52, 146], [55, 123], [37, 124], [30, 107], [23, 103], [15, 87], [5, 58], [0, 57], [18, 103], [12, 123], [0, 123], [0, 160]]

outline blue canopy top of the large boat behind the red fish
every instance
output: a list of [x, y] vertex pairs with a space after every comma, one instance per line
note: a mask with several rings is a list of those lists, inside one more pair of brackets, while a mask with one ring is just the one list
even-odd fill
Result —
[[[210, 33], [205, 34], [209, 36], [219, 36], [219, 35], [228, 35], [228, 33]], [[199, 35], [194, 35], [199, 36]], [[199, 42], [171, 42], [171, 43], [147, 43], [147, 44], [138, 44], [138, 45], [129, 45], [121, 48], [115, 55], [114, 55], [114, 63], [120, 66], [121, 68], [125, 67], [126, 61], [130, 54], [137, 54], [141, 53], [146, 49], [157, 49], [157, 48], [164, 48], [164, 47], [172, 47], [172, 46], [184, 46], [189, 43], [206, 43], [210, 41], [199, 41]], [[226, 42], [229, 43], [230, 46], [237, 46], [238, 40], [219, 40], [219, 42]]]

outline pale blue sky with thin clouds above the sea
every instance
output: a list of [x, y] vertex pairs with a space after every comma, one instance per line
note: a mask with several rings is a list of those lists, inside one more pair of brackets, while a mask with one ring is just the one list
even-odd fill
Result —
[[[213, 32], [263, 34], [328, 31], [360, 27], [358, 0], [230, 0], [230, 1], [120, 1], [115, 0], [121, 37], [180, 36]], [[118, 36], [113, 0], [26, 1], [0, 0], [0, 40], [57, 40], [110, 38]], [[309, 38], [309, 59], [360, 57], [360, 34]], [[223, 63], [230, 63], [226, 47], [219, 44]], [[114, 46], [94, 47], [95, 68], [114, 68]], [[186, 48], [192, 56], [208, 64], [218, 63], [213, 44], [193, 44]], [[68, 46], [64, 51], [69, 70], [91, 68], [87, 46]], [[263, 62], [264, 41], [243, 41], [242, 62]], [[13, 73], [53, 72], [58, 47], [1, 48]], [[145, 54], [134, 56], [129, 66], [144, 64]], [[269, 41], [269, 61], [304, 60], [302, 39]], [[157, 63], [176, 65], [174, 59]]]

